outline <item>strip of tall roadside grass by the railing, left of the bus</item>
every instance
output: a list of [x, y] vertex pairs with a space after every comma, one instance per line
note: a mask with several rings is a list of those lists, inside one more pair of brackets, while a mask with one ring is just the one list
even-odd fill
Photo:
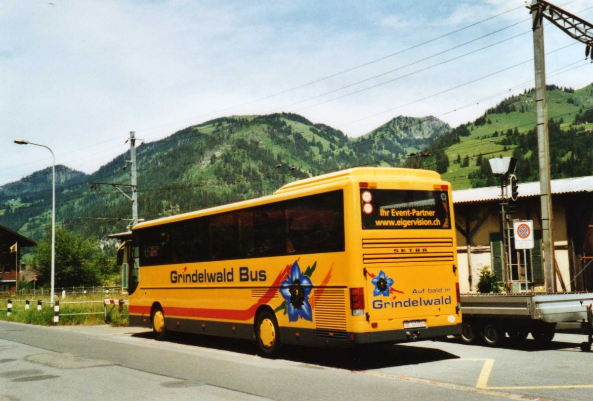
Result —
[[[42, 309], [37, 310], [37, 300], [31, 299], [29, 299], [30, 309], [25, 309], [26, 298], [24, 296], [11, 298], [12, 313], [10, 316], [7, 313], [7, 299], [0, 299], [0, 320], [31, 325], [53, 325], [54, 310], [49, 299], [42, 300]], [[65, 299], [59, 300], [59, 325], [103, 325], [105, 323], [103, 299], [105, 299], [104, 294], [88, 294], [86, 296], [68, 294]], [[129, 325], [126, 304], [123, 305], [122, 312], [117, 305], [114, 307], [107, 305], [107, 312], [107, 323], [111, 326]]]

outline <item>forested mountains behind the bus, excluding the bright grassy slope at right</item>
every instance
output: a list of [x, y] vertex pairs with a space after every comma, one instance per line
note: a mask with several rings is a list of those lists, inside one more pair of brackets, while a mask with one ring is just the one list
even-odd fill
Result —
[[[136, 148], [139, 216], [270, 194], [295, 179], [350, 166], [398, 166], [450, 130], [434, 117], [399, 116], [350, 139], [297, 114], [216, 118]], [[89, 236], [125, 230], [130, 201], [111, 185], [88, 183], [129, 184], [127, 159], [123, 153], [90, 175], [56, 169], [56, 221]], [[38, 239], [49, 220], [50, 188], [50, 169], [0, 187], [0, 224]], [[117, 218], [124, 220], [106, 220]]]

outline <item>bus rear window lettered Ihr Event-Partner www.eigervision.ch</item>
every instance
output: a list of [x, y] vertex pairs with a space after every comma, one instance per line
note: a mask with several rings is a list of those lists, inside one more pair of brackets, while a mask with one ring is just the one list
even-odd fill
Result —
[[366, 230], [450, 229], [447, 191], [361, 189]]

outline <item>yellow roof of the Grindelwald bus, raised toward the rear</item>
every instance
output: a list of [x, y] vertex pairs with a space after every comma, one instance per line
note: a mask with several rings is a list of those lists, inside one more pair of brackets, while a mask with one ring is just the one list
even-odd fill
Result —
[[221, 206], [190, 211], [188, 213], [176, 214], [175, 216], [161, 217], [160, 219], [149, 220], [148, 222], [136, 224], [136, 226], [133, 227], [133, 230], [156, 226], [158, 224], [178, 222], [181, 220], [190, 219], [192, 217], [205, 216], [207, 214], [214, 214], [218, 211], [227, 211], [229, 210], [229, 208], [235, 209], [243, 206], [255, 206], [254, 203], [266, 203], [266, 201], [275, 198], [275, 195], [289, 194], [293, 191], [315, 187], [316, 185], [320, 184], [334, 184], [339, 181], [350, 179], [374, 179], [380, 178], [381, 176], [401, 177], [407, 179], [441, 179], [441, 176], [437, 172], [431, 170], [392, 167], [354, 167], [346, 170], [331, 172], [329, 174], [318, 175], [316, 177], [299, 179], [298, 181], [290, 182], [289, 184], [283, 185], [283, 187], [279, 188], [279, 190], [273, 193], [273, 195], [267, 195], [259, 198], [224, 204]]

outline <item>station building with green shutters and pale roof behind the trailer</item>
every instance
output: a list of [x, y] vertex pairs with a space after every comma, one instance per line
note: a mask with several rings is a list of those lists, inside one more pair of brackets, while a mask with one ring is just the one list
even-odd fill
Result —
[[[508, 291], [545, 291], [541, 250], [540, 183], [519, 183], [512, 220], [533, 220], [534, 249], [510, 249]], [[593, 291], [593, 176], [551, 181], [553, 208], [554, 272], [556, 291]], [[503, 241], [501, 188], [453, 191], [457, 256], [461, 292], [474, 292], [480, 270], [489, 267], [502, 280]], [[512, 224], [511, 224], [512, 227]], [[511, 230], [512, 233], [512, 230]], [[510, 246], [509, 246], [510, 245]], [[525, 268], [527, 267], [527, 269]]]

